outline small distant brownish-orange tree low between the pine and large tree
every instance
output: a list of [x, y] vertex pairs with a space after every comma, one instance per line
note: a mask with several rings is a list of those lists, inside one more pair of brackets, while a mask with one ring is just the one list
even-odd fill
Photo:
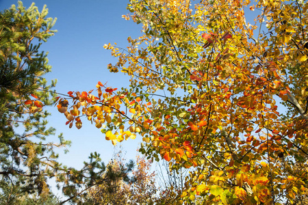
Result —
[[[125, 166], [123, 151], [120, 150], [107, 164], [104, 175], [110, 180], [92, 187], [85, 196], [89, 204], [153, 204], [156, 186], [155, 174], [151, 173], [151, 161], [137, 156], [136, 169], [132, 169], [132, 161]], [[125, 169], [130, 167], [131, 169]], [[113, 177], [112, 177], [113, 176]]]

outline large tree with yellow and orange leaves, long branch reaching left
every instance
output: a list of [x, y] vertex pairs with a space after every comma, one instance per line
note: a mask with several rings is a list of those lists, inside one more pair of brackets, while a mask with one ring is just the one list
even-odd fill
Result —
[[[282, 204], [307, 191], [307, 1], [131, 0], [142, 24], [105, 44], [130, 85], [99, 82], [58, 100], [112, 143], [142, 136], [142, 154], [194, 167], [178, 202]], [[255, 15], [255, 20], [246, 17]], [[67, 107], [66, 100], [73, 100]], [[303, 169], [296, 169], [296, 167]]]

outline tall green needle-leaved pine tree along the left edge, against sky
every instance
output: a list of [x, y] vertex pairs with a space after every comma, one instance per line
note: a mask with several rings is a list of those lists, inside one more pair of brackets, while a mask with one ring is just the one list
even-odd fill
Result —
[[51, 71], [42, 42], [56, 32], [55, 19], [47, 18], [34, 3], [26, 9], [21, 1], [0, 12], [0, 177], [23, 182], [29, 193], [47, 194], [47, 177], [54, 176], [59, 164], [55, 147], [68, 145], [47, 142], [54, 128], [47, 128], [55, 94], [42, 76]]

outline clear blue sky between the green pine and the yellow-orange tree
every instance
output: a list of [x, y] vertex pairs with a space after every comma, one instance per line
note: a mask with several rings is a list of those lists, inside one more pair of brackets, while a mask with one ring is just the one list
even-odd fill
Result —
[[[17, 5], [16, 0], [0, 0], [0, 10]], [[103, 45], [116, 42], [120, 47], [127, 46], [127, 37], [140, 35], [141, 27], [132, 21], [122, 18], [127, 14], [127, 0], [91, 0], [91, 1], [60, 1], [38, 0], [23, 1], [25, 7], [36, 3], [38, 10], [46, 4], [49, 8], [48, 17], [57, 18], [54, 29], [55, 36], [42, 44], [42, 51], [48, 51], [49, 64], [52, 72], [45, 77], [57, 79], [57, 92], [66, 94], [68, 91], [86, 91], [95, 89], [98, 81], [107, 82], [110, 87], [127, 87], [129, 79], [121, 73], [110, 73], [107, 64], [116, 61]], [[65, 139], [72, 141], [68, 154], [60, 154], [60, 162], [70, 167], [81, 168], [87, 161], [90, 152], [99, 152], [102, 160], [107, 163], [112, 158], [114, 146], [105, 140], [100, 129], [86, 119], [83, 127], [68, 128], [66, 118], [56, 107], [49, 108], [52, 113], [49, 125], [57, 129], [57, 135], [64, 134]], [[48, 140], [48, 139], [47, 139]], [[57, 141], [57, 138], [49, 139]], [[134, 159], [141, 137], [122, 143], [127, 151], [126, 158]], [[62, 150], [58, 150], [63, 153]]]

